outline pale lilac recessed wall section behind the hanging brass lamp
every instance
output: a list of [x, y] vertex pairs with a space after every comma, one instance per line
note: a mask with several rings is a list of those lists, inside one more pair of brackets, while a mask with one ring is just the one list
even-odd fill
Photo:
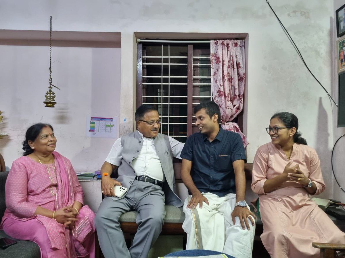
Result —
[[95, 171], [103, 164], [115, 139], [85, 136], [87, 116], [120, 114], [120, 49], [52, 48], [55, 108], [42, 101], [48, 90], [49, 47], [0, 46], [3, 122], [0, 152], [6, 165], [22, 155], [26, 129], [50, 123], [56, 150], [71, 160], [76, 171]]

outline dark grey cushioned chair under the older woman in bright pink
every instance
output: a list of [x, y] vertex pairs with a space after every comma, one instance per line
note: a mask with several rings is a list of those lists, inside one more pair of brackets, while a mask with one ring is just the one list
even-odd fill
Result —
[[[5, 203], [5, 183], [7, 179], [8, 171], [0, 172], [0, 221], [6, 209]], [[3, 230], [0, 230], [0, 238], [9, 237]], [[13, 238], [11, 238], [13, 239]], [[31, 241], [16, 240], [18, 243], [7, 247], [6, 249], [0, 249], [0, 257], [6, 258], [40, 258], [41, 251], [39, 246]]]

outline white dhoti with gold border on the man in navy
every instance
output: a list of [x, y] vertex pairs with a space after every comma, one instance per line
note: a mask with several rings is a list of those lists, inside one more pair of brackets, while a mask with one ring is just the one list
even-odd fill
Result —
[[247, 218], [250, 230], [243, 229], [238, 217], [233, 224], [231, 213], [236, 203], [236, 194], [224, 197], [212, 193], [203, 195], [209, 205], [204, 202], [201, 209], [199, 204], [195, 209], [187, 208], [191, 195], [183, 205], [186, 219], [182, 227], [187, 233], [186, 249], [214, 250], [238, 258], [251, 258], [255, 226]]

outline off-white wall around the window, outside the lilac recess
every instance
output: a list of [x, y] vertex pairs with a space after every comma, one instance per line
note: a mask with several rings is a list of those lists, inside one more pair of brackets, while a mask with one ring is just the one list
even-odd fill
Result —
[[[274, 0], [270, 4], [309, 68], [331, 91], [333, 37], [330, 28], [333, 25], [330, 18], [334, 12], [333, 1]], [[133, 129], [134, 32], [249, 33], [248, 162], [253, 161], [257, 147], [270, 140], [264, 129], [270, 116], [276, 111], [294, 112], [300, 120], [300, 131], [321, 159], [327, 184], [323, 196], [332, 195], [330, 150], [335, 130], [332, 105], [308, 74], [265, 0], [20, 0], [16, 4], [12, 0], [2, 0], [0, 29], [48, 30], [50, 15], [54, 30], [121, 32], [121, 135]], [[12, 112], [20, 112], [20, 109], [11, 107]], [[108, 151], [111, 144], [107, 144], [104, 149]], [[59, 145], [59, 150], [62, 147]], [[3, 150], [0, 146], [0, 151]], [[80, 149], [74, 151], [81, 153]], [[86, 155], [84, 163], [92, 163], [91, 160], [93, 162], [90, 155]]]

